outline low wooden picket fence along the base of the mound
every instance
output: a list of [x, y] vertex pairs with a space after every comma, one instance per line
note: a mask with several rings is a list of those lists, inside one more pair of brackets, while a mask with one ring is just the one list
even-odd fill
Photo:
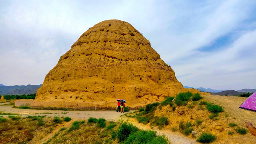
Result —
[[[135, 104], [135, 103], [134, 103]], [[132, 105], [134, 105], [132, 104]], [[50, 109], [50, 110], [116, 110], [116, 102], [108, 104], [99, 104], [92, 102], [35, 102], [33, 100], [17, 100], [15, 101], [16, 107], [27, 106], [36, 109]], [[135, 106], [128, 106], [129, 110], [138, 110], [145, 107], [146, 104], [136, 103]]]

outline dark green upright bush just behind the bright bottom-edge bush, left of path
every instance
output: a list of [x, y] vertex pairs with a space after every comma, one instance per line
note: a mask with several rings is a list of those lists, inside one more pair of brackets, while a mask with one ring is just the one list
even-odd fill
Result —
[[118, 141], [121, 142], [126, 140], [130, 134], [133, 134], [138, 130], [139, 128], [137, 128], [136, 126], [133, 126], [132, 124], [121, 123], [117, 131]]

